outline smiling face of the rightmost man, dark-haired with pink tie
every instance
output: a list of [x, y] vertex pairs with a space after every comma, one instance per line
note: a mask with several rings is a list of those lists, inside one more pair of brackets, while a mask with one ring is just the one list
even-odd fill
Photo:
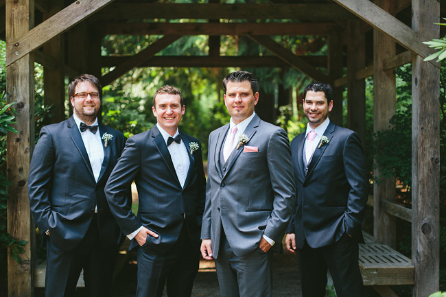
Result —
[[303, 112], [308, 119], [310, 128], [316, 129], [328, 117], [328, 113], [333, 108], [333, 100], [327, 102], [323, 91], [307, 91], [303, 99]]

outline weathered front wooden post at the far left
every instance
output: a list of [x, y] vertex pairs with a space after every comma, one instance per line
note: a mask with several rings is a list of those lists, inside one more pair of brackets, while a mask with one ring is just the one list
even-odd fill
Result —
[[[34, 1], [6, 0], [5, 5], [6, 43], [10, 45], [33, 27]], [[8, 233], [16, 239], [28, 241], [25, 252], [20, 255], [21, 263], [16, 263], [8, 255], [8, 296], [33, 296], [35, 226], [27, 195], [27, 176], [34, 147], [33, 54], [27, 54], [6, 67], [6, 92], [8, 102], [16, 102], [14, 108], [19, 115], [15, 128], [20, 132], [8, 134], [8, 180], [12, 183], [8, 188]]]

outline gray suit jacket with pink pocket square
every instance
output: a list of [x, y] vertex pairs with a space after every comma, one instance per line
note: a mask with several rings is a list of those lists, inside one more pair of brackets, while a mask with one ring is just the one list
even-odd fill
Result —
[[224, 168], [220, 152], [229, 124], [209, 135], [208, 182], [203, 215], [202, 239], [211, 239], [217, 259], [222, 227], [235, 255], [253, 252], [263, 234], [281, 241], [295, 200], [290, 142], [285, 130], [255, 115], [244, 134], [246, 145], [258, 152], [233, 150]]

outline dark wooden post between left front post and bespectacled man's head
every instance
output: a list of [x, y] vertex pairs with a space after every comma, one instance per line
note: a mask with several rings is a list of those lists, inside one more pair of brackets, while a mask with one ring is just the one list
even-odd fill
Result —
[[[53, 0], [49, 5], [49, 11], [43, 14], [43, 19], [49, 19], [62, 8], [62, 0]], [[54, 117], [51, 117], [51, 123], [58, 123], [65, 118], [65, 82], [64, 82], [64, 38], [63, 34], [58, 35], [43, 45], [43, 52], [56, 61], [56, 68], [51, 69], [43, 65], [43, 88], [45, 90], [45, 105], [52, 104]]]

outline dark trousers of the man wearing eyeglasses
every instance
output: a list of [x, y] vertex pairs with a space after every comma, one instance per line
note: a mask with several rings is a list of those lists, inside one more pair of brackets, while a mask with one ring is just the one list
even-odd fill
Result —
[[47, 240], [47, 270], [45, 296], [74, 296], [80, 272], [84, 269], [84, 281], [88, 296], [108, 297], [112, 284], [118, 246], [103, 247], [97, 225], [97, 214], [89, 230], [73, 250], [61, 250]]

